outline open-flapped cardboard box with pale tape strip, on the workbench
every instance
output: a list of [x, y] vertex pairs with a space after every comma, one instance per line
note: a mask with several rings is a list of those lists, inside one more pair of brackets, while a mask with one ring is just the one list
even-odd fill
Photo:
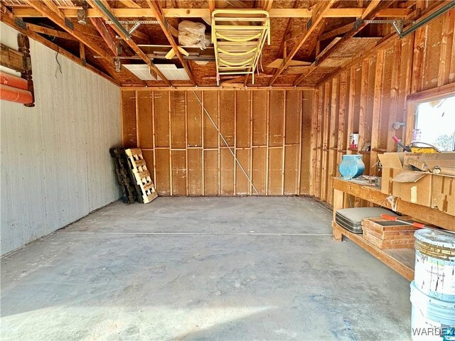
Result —
[[392, 195], [413, 204], [432, 206], [433, 174], [417, 171], [401, 171], [392, 178]]

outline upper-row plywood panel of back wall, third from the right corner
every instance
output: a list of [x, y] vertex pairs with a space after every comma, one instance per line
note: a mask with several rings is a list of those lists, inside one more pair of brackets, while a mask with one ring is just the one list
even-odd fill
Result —
[[272, 90], [269, 96], [269, 146], [283, 146], [284, 90]]

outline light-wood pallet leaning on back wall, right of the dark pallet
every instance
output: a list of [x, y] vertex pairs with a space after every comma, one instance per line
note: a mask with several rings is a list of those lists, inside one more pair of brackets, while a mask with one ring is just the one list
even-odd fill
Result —
[[139, 197], [141, 201], [146, 204], [151, 202], [158, 195], [156, 194], [154, 182], [151, 180], [149, 170], [147, 169], [144, 156], [142, 156], [141, 148], [126, 149], [125, 153], [129, 161], [129, 168], [131, 169], [136, 184], [139, 188]]

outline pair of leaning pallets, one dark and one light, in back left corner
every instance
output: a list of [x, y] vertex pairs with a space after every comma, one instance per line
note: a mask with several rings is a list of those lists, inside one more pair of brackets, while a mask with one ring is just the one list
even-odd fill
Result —
[[109, 153], [114, 159], [115, 174], [122, 188], [124, 203], [137, 201], [146, 204], [158, 196], [141, 149], [110, 148]]

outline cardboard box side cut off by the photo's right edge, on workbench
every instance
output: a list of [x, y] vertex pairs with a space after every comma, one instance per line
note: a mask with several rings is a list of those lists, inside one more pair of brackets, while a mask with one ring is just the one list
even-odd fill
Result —
[[455, 178], [433, 175], [432, 207], [455, 215]]

